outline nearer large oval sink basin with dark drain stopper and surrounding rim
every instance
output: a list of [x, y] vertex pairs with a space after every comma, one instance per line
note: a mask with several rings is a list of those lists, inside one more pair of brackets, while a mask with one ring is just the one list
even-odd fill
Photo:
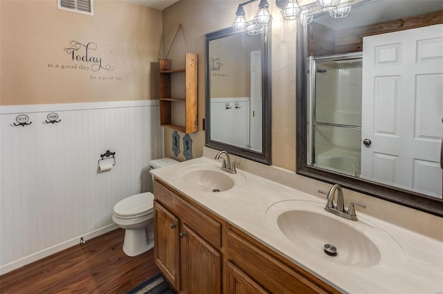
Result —
[[[403, 248], [382, 228], [361, 216], [359, 221], [337, 217], [324, 206], [314, 201], [278, 202], [266, 211], [266, 221], [293, 243], [294, 250], [328, 262], [360, 267], [404, 263]], [[325, 245], [334, 246], [336, 255], [328, 255]]]

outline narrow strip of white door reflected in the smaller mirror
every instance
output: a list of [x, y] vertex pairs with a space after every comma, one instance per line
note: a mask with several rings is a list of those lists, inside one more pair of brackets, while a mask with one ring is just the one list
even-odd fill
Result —
[[251, 131], [250, 145], [254, 151], [262, 151], [262, 55], [251, 51]]

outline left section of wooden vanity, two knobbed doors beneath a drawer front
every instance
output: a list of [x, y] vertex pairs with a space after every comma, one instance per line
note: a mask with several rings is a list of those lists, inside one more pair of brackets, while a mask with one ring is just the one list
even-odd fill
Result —
[[154, 257], [179, 293], [221, 293], [221, 223], [154, 181]]

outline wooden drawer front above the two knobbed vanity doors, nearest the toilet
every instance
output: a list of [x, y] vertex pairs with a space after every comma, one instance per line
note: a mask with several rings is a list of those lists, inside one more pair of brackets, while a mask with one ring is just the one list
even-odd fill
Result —
[[178, 192], [173, 192], [159, 180], [154, 180], [154, 198], [178, 217], [182, 225], [186, 225], [209, 244], [219, 249], [221, 247], [221, 222], [209, 217], [208, 214], [184, 201]]

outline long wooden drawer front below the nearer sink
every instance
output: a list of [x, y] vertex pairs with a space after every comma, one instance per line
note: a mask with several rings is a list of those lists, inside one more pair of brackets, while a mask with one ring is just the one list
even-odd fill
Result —
[[270, 293], [340, 293], [235, 228], [227, 230], [226, 260]]

